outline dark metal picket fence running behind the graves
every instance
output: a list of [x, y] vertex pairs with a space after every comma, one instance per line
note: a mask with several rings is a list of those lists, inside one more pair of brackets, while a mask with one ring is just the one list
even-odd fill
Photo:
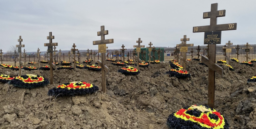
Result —
[[[199, 54], [201, 55], [206, 55], [206, 50], [204, 50], [204, 48], [206, 48], [206, 46], [201, 46], [200, 47], [200, 52]], [[241, 46], [241, 48], [245, 48], [245, 46]], [[250, 59], [256, 59], [256, 47], [252, 47], [253, 49], [250, 49], [250, 52], [248, 54], [248, 56], [250, 57]], [[186, 55], [187, 55], [187, 59], [193, 59], [195, 57], [198, 57], [198, 52], [196, 50], [196, 48], [192, 48], [193, 50], [193, 53], [191, 53], [191, 48], [188, 49], [188, 52], [186, 52]], [[237, 54], [236, 54], [236, 49], [232, 49], [232, 52], [230, 53], [230, 58], [237, 58]], [[128, 55], [129, 53], [129, 55]], [[160, 58], [158, 57], [157, 55], [157, 52], [155, 52], [155, 54], [153, 52], [150, 52], [151, 55], [154, 55], [155, 56], [155, 60], [160, 60], [160, 62], [168, 62], [169, 60], [172, 60], [172, 59], [175, 59], [174, 57], [174, 49], [165, 49], [164, 50], [164, 55], [163, 53], [160, 53]], [[238, 60], [240, 62], [243, 62], [246, 60], [246, 57], [245, 57], [245, 49], [239, 49], [238, 53], [240, 54], [238, 56]], [[141, 53], [140, 53], [140, 59], [141, 60], [149, 60], [149, 51], [146, 51], [146, 54], [143, 55], [143, 58], [141, 56]], [[216, 47], [216, 60], [220, 60], [220, 59], [225, 59], [225, 56], [223, 55], [224, 52], [222, 50], [222, 47]], [[136, 54], [137, 55], [137, 54]], [[49, 54], [48, 54], [49, 56]], [[40, 57], [39, 59], [40, 60], [46, 60], [47, 61], [47, 54], [40, 54]], [[193, 58], [192, 58], [193, 56]], [[17, 60], [17, 57], [19, 57], [19, 55], [3, 55], [2, 56], [2, 59], [3, 61], [13, 61], [14, 62], [14, 59]], [[53, 55], [54, 57], [54, 55]], [[66, 61], [72, 61], [73, 57], [73, 54], [70, 54], [69, 53], [62, 53], [61, 55], [57, 54], [56, 53], [56, 61], [57, 62], [60, 62], [62, 60], [66, 60]], [[124, 57], [125, 57], [125, 60], [128, 60], [128, 59], [133, 59], [134, 60], [134, 56], [132, 54], [132, 51], [124, 51]], [[79, 54], [79, 60], [78, 60], [78, 55], [76, 54], [76, 57], [75, 59], [79, 62], [83, 62], [84, 60], [87, 60], [87, 53], [86, 52], [81, 52]], [[122, 59], [122, 53], [120, 53], [119, 51], [119, 54], [115, 54], [115, 50], [107, 50], [107, 53], [105, 55], [105, 58], [106, 59], [118, 59], [118, 60], [123, 60]], [[201, 58], [201, 56], [199, 56], [199, 58]], [[92, 59], [92, 60], [101, 60], [101, 53], [97, 53], [97, 54], [89, 54], [89, 59]], [[250, 60], [249, 59], [249, 60]], [[34, 62], [37, 62], [37, 54], [26, 54], [25, 56], [22, 54], [22, 57], [21, 57], [21, 60], [24, 61], [26, 60], [26, 62], [30, 62], [30, 61], [34, 61]], [[153, 58], [151, 58], [151, 60], [153, 60]]]

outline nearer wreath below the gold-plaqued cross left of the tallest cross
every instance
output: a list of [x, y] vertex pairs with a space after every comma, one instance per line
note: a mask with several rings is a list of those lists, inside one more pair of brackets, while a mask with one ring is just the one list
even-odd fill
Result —
[[166, 72], [166, 74], [169, 74], [170, 77], [177, 77], [177, 78], [188, 78], [190, 77], [190, 74], [188, 73], [188, 71], [184, 70], [184, 69], [171, 69], [169, 71]]

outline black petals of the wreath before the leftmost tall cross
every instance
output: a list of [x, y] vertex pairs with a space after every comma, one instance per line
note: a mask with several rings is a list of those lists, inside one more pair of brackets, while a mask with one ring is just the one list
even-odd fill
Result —
[[[27, 79], [27, 75], [21, 75], [20, 77], [23, 77], [23, 79]], [[37, 77], [40, 77], [40, 75], [37, 75]], [[32, 79], [36, 79], [37, 77], [33, 77]], [[19, 88], [37, 88], [37, 87], [43, 87], [48, 85], [50, 82], [48, 79], [44, 78], [43, 82], [34, 82], [34, 83], [24, 83], [22, 80], [19, 79], [13, 79], [9, 81], [9, 84], [12, 84], [13, 86], [19, 87]]]

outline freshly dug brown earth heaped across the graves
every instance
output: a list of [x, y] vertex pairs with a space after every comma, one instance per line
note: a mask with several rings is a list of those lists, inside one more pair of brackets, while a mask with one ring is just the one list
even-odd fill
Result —
[[[199, 62], [191, 60], [187, 65], [190, 78], [177, 79], [165, 74], [171, 69], [169, 63], [151, 64], [140, 67], [138, 75], [124, 75], [117, 72], [121, 66], [106, 61], [110, 69], [107, 93], [99, 90], [85, 96], [55, 99], [47, 92], [73, 81], [85, 81], [101, 89], [100, 71], [54, 70], [54, 85], [35, 89], [11, 89], [12, 85], [8, 88], [8, 84], [0, 83], [0, 128], [167, 129], [166, 120], [172, 112], [192, 104], [207, 104], [208, 67]], [[256, 128], [256, 84], [247, 84], [247, 79], [256, 74], [253, 64], [230, 62], [235, 71], [223, 66], [223, 77], [216, 74], [215, 109], [224, 115], [230, 129]], [[0, 74], [17, 73], [0, 67]], [[50, 77], [50, 72], [43, 70], [22, 73]]]

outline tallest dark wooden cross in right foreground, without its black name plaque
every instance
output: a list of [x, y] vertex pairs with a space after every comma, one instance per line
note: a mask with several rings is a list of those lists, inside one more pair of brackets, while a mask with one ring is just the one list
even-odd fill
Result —
[[[210, 25], [193, 27], [193, 32], [212, 32], [236, 30], [237, 23], [217, 24], [217, 17], [224, 17], [226, 10], [218, 10], [218, 3], [211, 4], [211, 11], [203, 13], [203, 19], [210, 18]], [[209, 45], [209, 55], [207, 59], [201, 55], [201, 61], [209, 67], [208, 74], [208, 106], [214, 108], [215, 101], [215, 71], [223, 75], [223, 69], [215, 64], [216, 62], [216, 44]]]

